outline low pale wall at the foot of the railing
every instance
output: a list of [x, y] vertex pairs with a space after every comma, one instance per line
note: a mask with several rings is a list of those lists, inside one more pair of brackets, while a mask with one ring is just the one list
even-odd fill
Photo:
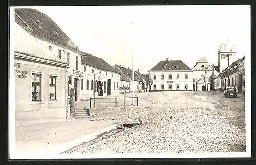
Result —
[[[131, 109], [141, 109], [145, 108], [145, 106], [125, 106], [125, 110], [129, 111]], [[89, 109], [89, 115], [99, 115], [99, 114], [105, 114], [112, 111], [123, 111], [123, 107], [108, 107], [108, 108], [91, 108]]]

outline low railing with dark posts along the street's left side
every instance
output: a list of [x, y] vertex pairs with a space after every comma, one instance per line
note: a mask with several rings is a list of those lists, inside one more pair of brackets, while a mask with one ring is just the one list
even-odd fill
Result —
[[[108, 99], [108, 101], [102, 101], [102, 100], [106, 100]], [[107, 104], [108, 106], [111, 106], [111, 107], [117, 107], [118, 105], [119, 106], [127, 106], [125, 105], [125, 102], [127, 102], [127, 99], [136, 99], [136, 106], [139, 105], [139, 99], [138, 97], [102, 97], [102, 98], [92, 98], [90, 97], [89, 99], [89, 106], [90, 106], [90, 109], [92, 108], [95, 108], [95, 104], [102, 104], [103, 107], [105, 104]], [[105, 106], [107, 107], [107, 106]]]

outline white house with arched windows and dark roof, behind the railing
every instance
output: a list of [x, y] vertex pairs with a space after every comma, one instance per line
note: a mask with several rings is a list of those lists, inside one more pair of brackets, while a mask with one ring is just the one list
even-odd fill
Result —
[[[120, 73], [102, 58], [83, 53], [82, 59], [81, 98], [96, 96], [116, 96], [121, 86]], [[95, 75], [95, 78], [94, 78]]]

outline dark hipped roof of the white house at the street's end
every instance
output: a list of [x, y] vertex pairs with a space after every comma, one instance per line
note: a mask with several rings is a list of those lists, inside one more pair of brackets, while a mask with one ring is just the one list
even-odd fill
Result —
[[[177, 68], [175, 66], [178, 66]], [[154, 66], [150, 71], [173, 71], [173, 70], [191, 70], [185, 63], [181, 60], [164, 60], [160, 61], [156, 66]]]

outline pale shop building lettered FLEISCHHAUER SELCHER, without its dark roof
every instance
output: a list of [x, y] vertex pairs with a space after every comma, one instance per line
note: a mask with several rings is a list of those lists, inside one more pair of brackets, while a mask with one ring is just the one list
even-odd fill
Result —
[[14, 23], [16, 121], [69, 119], [66, 82], [70, 65], [42, 46], [20, 23]]

